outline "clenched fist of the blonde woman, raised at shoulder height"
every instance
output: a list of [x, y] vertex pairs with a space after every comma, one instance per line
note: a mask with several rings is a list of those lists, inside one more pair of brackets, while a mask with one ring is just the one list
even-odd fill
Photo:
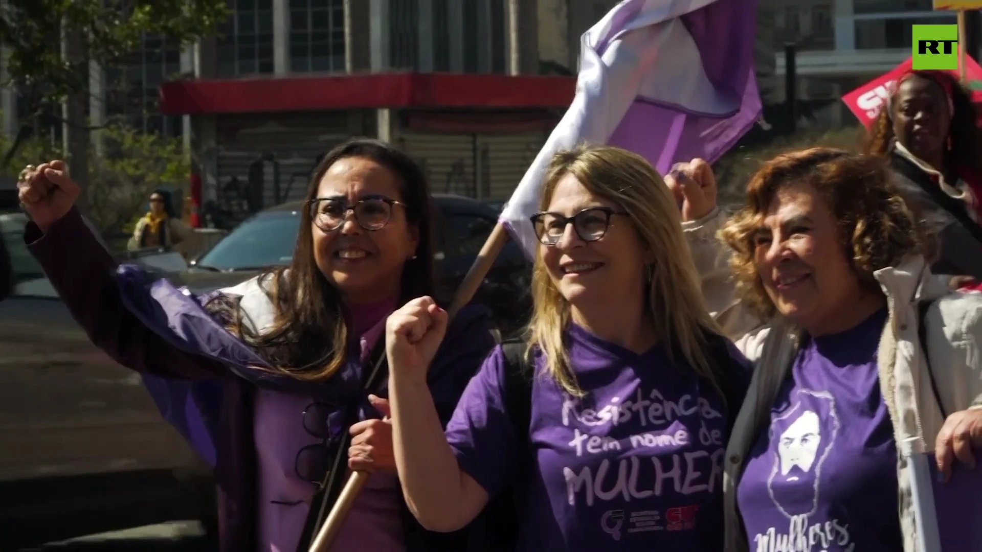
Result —
[[416, 298], [390, 314], [385, 323], [390, 373], [425, 381], [426, 370], [447, 333], [447, 319], [447, 311], [429, 297]]

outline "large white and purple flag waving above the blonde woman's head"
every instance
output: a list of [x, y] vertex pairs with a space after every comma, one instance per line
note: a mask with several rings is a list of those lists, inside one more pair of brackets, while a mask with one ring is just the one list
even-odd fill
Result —
[[756, 0], [624, 0], [580, 38], [576, 95], [501, 214], [525, 254], [555, 152], [609, 143], [665, 174], [713, 162], [760, 117], [754, 76]]

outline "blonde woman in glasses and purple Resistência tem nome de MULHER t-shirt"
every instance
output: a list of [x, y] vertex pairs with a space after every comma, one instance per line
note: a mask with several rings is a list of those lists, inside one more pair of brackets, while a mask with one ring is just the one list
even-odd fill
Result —
[[450, 531], [489, 499], [516, 500], [516, 541], [498, 550], [719, 550], [724, 447], [748, 378], [703, 306], [675, 199], [643, 158], [582, 146], [553, 158], [531, 223], [524, 388], [522, 362], [497, 348], [445, 433], [426, 369], [446, 313], [421, 298], [388, 320], [411, 512]]

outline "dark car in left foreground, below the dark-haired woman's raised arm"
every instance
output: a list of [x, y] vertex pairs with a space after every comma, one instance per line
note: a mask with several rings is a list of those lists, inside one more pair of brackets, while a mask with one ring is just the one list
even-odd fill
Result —
[[174, 520], [214, 530], [210, 470], [139, 376], [88, 342], [27, 251], [26, 222], [0, 214], [13, 285], [0, 303], [0, 550]]

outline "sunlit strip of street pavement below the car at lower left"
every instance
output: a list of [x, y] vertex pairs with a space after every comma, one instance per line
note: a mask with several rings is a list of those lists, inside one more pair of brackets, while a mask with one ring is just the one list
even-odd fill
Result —
[[173, 522], [52, 542], [20, 552], [214, 552], [196, 522]]

